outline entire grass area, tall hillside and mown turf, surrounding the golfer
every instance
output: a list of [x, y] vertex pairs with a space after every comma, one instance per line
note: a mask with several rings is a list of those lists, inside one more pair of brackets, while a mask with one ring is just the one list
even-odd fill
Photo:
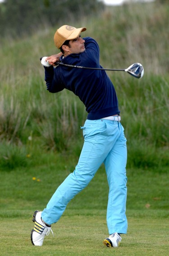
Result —
[[85, 24], [84, 36], [98, 41], [103, 67], [140, 62], [145, 69], [138, 80], [126, 72], [108, 72], [128, 140], [128, 234], [116, 249], [102, 244], [108, 235], [104, 166], [52, 226], [55, 237], [46, 237], [41, 248], [32, 246], [32, 213], [43, 210], [74, 170], [87, 114], [72, 93], [46, 92], [39, 58], [55, 53], [55, 29], [2, 39], [0, 255], [169, 255], [168, 17], [167, 4], [137, 3], [73, 24]]

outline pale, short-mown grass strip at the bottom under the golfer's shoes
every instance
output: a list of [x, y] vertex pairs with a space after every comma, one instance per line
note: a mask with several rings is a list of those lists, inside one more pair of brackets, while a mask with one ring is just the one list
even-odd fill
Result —
[[62, 217], [53, 227], [55, 237], [51, 234], [46, 237], [42, 247], [32, 246], [30, 242], [32, 223], [30, 218], [4, 220], [0, 255], [168, 255], [169, 225], [161, 218], [157, 222], [152, 218], [129, 217], [128, 235], [122, 235], [119, 248], [107, 248], [102, 244], [106, 229], [103, 216], [74, 214]]

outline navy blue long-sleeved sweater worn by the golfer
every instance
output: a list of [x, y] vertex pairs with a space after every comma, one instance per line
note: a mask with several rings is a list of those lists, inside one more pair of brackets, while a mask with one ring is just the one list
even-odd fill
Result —
[[[84, 38], [85, 51], [60, 58], [62, 63], [76, 66], [102, 68], [100, 51], [96, 41]], [[77, 95], [86, 106], [87, 119], [96, 120], [119, 114], [118, 99], [114, 86], [104, 70], [53, 66], [45, 68], [45, 81], [49, 92], [60, 92], [64, 88]]]

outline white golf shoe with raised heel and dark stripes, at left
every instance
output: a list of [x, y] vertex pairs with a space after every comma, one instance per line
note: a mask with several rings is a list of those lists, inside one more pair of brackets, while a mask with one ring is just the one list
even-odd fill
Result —
[[35, 222], [34, 228], [31, 231], [31, 242], [32, 245], [42, 246], [45, 236], [49, 236], [51, 226], [47, 227], [44, 222], [41, 220], [41, 212], [35, 211], [33, 213], [32, 221]]

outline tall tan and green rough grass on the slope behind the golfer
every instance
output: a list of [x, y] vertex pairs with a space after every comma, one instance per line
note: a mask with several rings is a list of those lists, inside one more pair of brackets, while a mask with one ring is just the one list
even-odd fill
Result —
[[[98, 41], [100, 64], [105, 68], [127, 68], [134, 62], [144, 66], [145, 75], [139, 80], [125, 72], [108, 73], [119, 98], [129, 166], [168, 164], [168, 14], [166, 5], [137, 3], [112, 7], [101, 19], [73, 24], [87, 26], [83, 35]], [[54, 33], [55, 29], [46, 28], [32, 37], [6, 39], [1, 45], [0, 140], [7, 147], [9, 143], [26, 146], [30, 133], [37, 149], [62, 152], [82, 141], [78, 128], [87, 116], [82, 102], [65, 90], [46, 92], [39, 58], [57, 53]]]

